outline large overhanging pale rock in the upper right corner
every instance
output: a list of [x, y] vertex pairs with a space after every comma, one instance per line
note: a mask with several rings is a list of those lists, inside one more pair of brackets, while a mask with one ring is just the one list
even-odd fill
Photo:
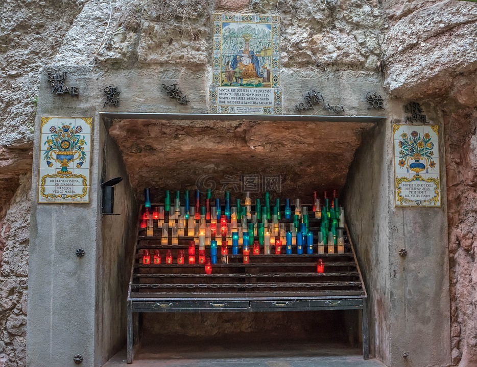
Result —
[[477, 7], [464, 1], [385, 1], [385, 86], [402, 98], [445, 98], [477, 68]]

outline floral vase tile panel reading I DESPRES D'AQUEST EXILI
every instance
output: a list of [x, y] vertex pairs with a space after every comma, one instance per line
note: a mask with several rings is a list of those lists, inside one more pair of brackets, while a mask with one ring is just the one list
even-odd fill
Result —
[[395, 206], [441, 206], [439, 128], [393, 125]]

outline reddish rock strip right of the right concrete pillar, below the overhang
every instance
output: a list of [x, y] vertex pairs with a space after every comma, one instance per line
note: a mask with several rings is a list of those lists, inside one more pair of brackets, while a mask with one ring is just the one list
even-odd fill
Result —
[[477, 110], [445, 119], [452, 363], [477, 365]]

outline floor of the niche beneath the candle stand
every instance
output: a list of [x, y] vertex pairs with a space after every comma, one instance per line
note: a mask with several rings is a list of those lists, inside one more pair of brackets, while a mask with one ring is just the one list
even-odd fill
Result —
[[[126, 350], [103, 367], [126, 367]], [[230, 342], [213, 344], [197, 340], [149, 342], [135, 355], [134, 367], [385, 367], [375, 359], [364, 360], [361, 350], [338, 344], [309, 342]]]

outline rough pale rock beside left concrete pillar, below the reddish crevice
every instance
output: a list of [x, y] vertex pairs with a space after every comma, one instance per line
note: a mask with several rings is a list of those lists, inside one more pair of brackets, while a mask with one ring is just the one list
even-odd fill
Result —
[[31, 179], [19, 181], [0, 221], [0, 365], [5, 367], [25, 366]]

